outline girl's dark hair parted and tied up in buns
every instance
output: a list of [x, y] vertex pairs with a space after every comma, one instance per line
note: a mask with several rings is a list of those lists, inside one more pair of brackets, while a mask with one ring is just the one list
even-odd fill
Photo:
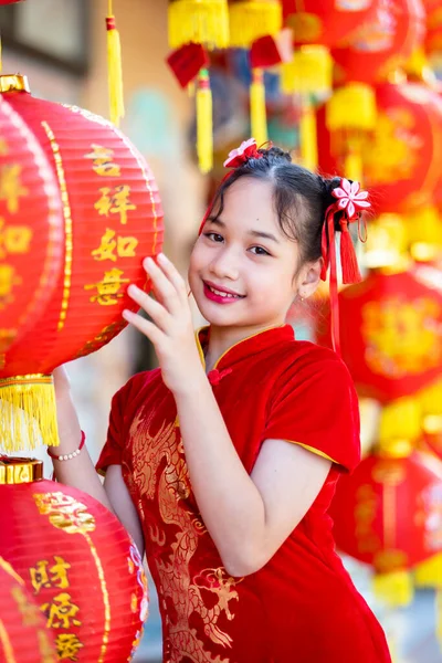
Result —
[[[332, 191], [340, 186], [340, 178], [325, 179], [292, 164], [291, 155], [278, 147], [257, 151], [261, 155], [259, 158], [249, 158], [222, 182], [210, 210], [215, 211], [215, 218], [222, 214], [225, 191], [241, 177], [266, 180], [273, 185], [281, 230], [290, 240], [299, 244], [299, 266], [318, 260], [322, 255], [325, 213], [336, 202]], [[211, 211], [210, 215], [213, 218]], [[336, 230], [340, 231], [339, 214], [336, 217]]]

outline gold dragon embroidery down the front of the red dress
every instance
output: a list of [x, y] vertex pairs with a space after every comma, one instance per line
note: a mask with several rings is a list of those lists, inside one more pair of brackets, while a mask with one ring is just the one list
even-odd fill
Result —
[[[230, 635], [218, 627], [222, 613], [229, 620], [234, 618], [230, 601], [239, 600], [234, 590], [235, 580], [227, 576], [221, 568], [204, 569], [198, 577], [191, 578], [189, 562], [197, 551], [199, 539], [207, 533], [202, 522], [180, 505], [190, 495], [190, 482], [185, 461], [182, 441], [179, 438], [177, 422], [164, 423], [155, 436], [150, 434], [154, 415], [138, 414], [130, 428], [134, 454], [134, 483], [140, 497], [154, 499], [158, 490], [159, 512], [165, 525], [178, 527], [171, 552], [167, 561], [156, 559], [161, 582], [161, 594], [169, 599], [176, 610], [176, 619], [166, 617], [168, 642], [165, 643], [165, 661], [180, 663], [229, 663], [229, 659], [213, 657], [204, 643], [198, 639], [197, 631], [189, 627], [190, 617], [197, 613], [203, 623], [206, 635], [227, 649], [232, 646]], [[166, 459], [165, 470], [158, 477], [158, 469]], [[157, 526], [150, 527], [148, 535], [158, 545], [166, 543], [166, 535]], [[204, 604], [201, 589], [212, 592], [215, 603]]]

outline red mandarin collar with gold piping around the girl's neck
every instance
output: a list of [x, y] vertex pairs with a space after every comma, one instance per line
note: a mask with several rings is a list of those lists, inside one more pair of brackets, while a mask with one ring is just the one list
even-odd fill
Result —
[[[207, 345], [209, 336], [210, 326], [198, 329], [196, 334], [198, 351], [204, 368], [206, 358], [202, 348]], [[225, 352], [217, 360], [212, 370], [223, 370], [231, 367], [233, 364], [236, 364], [236, 361], [256, 355], [256, 352], [265, 350], [271, 346], [275, 346], [284, 340], [293, 340], [294, 337], [295, 335], [291, 325], [278, 325], [277, 327], [270, 327], [262, 332], [257, 332], [256, 334], [252, 334], [225, 350]]]

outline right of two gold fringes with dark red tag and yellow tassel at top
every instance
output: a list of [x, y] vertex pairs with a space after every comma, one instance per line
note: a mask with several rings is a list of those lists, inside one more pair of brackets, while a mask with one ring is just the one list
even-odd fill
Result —
[[269, 48], [262, 40], [271, 38], [276, 44], [283, 27], [282, 7], [278, 0], [230, 0], [229, 17], [231, 48], [251, 50], [251, 134], [260, 146], [269, 139], [264, 67], [281, 62], [281, 57], [267, 62]]

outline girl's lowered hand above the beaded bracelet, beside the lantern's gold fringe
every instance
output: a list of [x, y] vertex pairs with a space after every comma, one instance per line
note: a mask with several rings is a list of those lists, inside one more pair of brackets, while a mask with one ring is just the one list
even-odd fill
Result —
[[54, 379], [56, 421], [59, 424], [61, 449], [67, 446], [71, 448], [73, 441], [74, 448], [76, 449], [81, 440], [82, 431], [72, 399], [71, 382], [66, 369], [64, 366], [59, 366], [55, 368], [52, 376]]

